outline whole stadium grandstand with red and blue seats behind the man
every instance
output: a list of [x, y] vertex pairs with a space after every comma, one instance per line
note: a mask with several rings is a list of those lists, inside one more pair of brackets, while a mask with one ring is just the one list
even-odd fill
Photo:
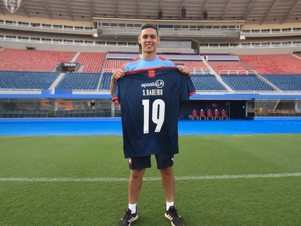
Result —
[[55, 2], [40, 9], [23, 0], [14, 14], [0, 7], [0, 118], [120, 117], [110, 76], [139, 56], [140, 26], [154, 23], [158, 54], [190, 67], [197, 89], [181, 118], [225, 109], [230, 119], [300, 119], [299, 1], [240, 1], [240, 9], [204, 1], [207, 19], [186, 1], [175, 9], [161, 1], [146, 13], [143, 1], [128, 12], [121, 3], [109, 7], [115, 1], [107, 10], [96, 1]]

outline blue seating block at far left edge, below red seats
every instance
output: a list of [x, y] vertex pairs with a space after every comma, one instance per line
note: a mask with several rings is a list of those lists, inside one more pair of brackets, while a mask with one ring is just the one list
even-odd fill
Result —
[[48, 89], [60, 73], [0, 71], [0, 88], [3, 89]]

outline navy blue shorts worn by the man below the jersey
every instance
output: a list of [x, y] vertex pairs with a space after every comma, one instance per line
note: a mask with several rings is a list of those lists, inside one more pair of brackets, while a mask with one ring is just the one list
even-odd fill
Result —
[[[157, 160], [157, 168], [162, 169], [174, 165], [174, 154], [158, 153], [155, 154]], [[128, 158], [128, 167], [130, 169], [145, 169], [150, 168], [150, 155]]]

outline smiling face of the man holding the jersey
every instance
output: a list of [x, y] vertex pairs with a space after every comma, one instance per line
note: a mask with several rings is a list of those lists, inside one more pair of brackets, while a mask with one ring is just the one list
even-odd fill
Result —
[[160, 37], [157, 36], [155, 29], [146, 28], [141, 31], [138, 42], [141, 44], [142, 51], [149, 54], [156, 52], [157, 45], [160, 43]]

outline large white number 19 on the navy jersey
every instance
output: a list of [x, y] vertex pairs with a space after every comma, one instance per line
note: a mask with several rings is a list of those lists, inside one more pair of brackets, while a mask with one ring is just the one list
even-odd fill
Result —
[[[142, 105], [143, 105], [143, 115], [144, 115], [143, 133], [148, 134], [149, 99], [142, 99]], [[159, 110], [159, 115], [158, 115], [158, 110]], [[164, 122], [164, 114], [165, 114], [165, 102], [162, 99], [156, 99], [153, 102], [153, 114], [152, 114], [152, 120], [155, 124], [157, 124], [155, 132], [161, 131]]]

